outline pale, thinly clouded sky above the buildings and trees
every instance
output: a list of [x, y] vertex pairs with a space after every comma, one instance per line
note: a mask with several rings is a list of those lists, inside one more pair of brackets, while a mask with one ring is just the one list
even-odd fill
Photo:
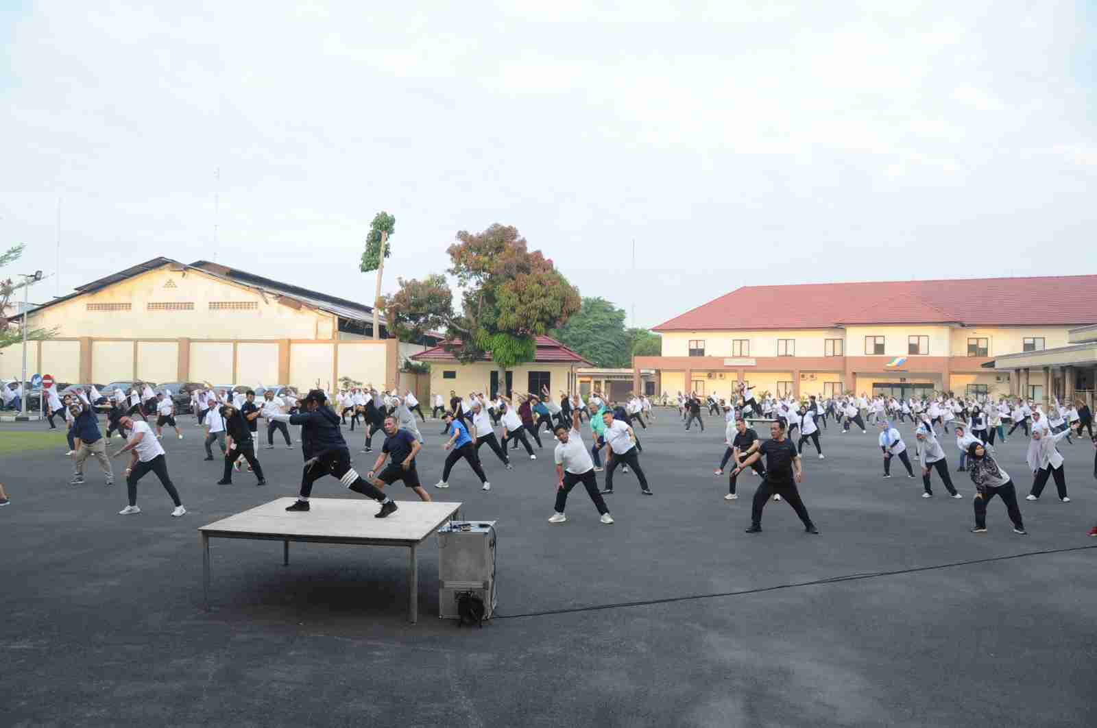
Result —
[[382, 209], [386, 293], [501, 223], [643, 327], [742, 285], [1097, 273], [1095, 29], [1056, 0], [0, 0], [2, 273], [55, 274], [42, 302], [206, 259], [367, 304]]

